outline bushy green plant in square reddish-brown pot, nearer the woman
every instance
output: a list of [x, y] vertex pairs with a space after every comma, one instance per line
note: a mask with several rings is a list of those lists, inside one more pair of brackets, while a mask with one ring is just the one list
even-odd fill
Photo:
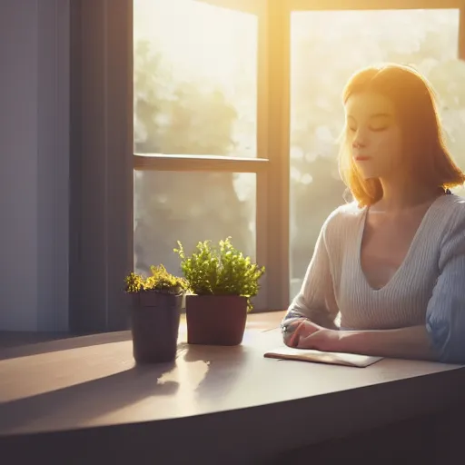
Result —
[[174, 252], [181, 257], [183, 276], [192, 292], [185, 301], [188, 343], [240, 344], [264, 267], [236, 250], [231, 237], [217, 245], [198, 242], [191, 255], [178, 241]]

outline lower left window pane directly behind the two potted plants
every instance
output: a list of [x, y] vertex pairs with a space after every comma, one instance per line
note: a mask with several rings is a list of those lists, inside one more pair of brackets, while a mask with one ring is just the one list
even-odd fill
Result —
[[176, 241], [189, 251], [199, 240], [229, 235], [255, 259], [255, 200], [255, 173], [135, 171], [136, 270], [163, 263], [178, 272]]

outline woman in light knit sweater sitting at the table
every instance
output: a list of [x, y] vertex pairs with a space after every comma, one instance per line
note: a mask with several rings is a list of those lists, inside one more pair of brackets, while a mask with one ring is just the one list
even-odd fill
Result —
[[356, 202], [323, 224], [284, 342], [465, 362], [465, 200], [449, 190], [465, 174], [430, 85], [407, 66], [370, 67], [343, 104], [340, 172]]

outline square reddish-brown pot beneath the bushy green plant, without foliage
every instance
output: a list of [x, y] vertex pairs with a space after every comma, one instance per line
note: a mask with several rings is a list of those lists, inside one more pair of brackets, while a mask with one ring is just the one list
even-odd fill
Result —
[[238, 295], [186, 295], [187, 342], [238, 345], [247, 321], [247, 298]]

